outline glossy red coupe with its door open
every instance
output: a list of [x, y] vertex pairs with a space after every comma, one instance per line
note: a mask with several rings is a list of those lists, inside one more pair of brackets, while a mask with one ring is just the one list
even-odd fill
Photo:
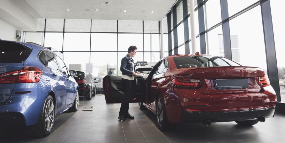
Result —
[[[262, 69], [221, 56], [167, 56], [138, 81], [130, 103], [155, 113], [160, 130], [179, 122], [254, 125], [273, 117], [276, 110], [276, 93]], [[120, 76], [105, 76], [103, 89], [106, 103], [121, 103]]]

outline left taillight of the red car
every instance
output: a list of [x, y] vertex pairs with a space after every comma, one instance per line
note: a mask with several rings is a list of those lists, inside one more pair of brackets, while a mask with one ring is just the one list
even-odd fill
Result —
[[193, 79], [190, 75], [177, 76], [172, 82], [174, 88], [197, 89], [201, 87], [200, 80]]

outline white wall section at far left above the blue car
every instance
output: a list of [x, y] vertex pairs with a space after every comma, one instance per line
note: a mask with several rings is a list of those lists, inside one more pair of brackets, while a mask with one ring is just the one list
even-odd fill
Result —
[[[16, 40], [17, 28], [0, 18], [0, 38], [2, 40]], [[23, 32], [22, 32], [23, 34]]]

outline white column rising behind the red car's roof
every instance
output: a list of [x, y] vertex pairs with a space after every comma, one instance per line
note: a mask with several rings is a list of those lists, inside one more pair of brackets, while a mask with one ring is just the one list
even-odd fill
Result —
[[[197, 52], [196, 48], [196, 30], [195, 29], [195, 9], [194, 9], [194, 0], [190, 0], [190, 27], [191, 27], [191, 46], [192, 46], [192, 54]], [[197, 41], [199, 42], [199, 41]], [[191, 54], [191, 53], [190, 53]]]

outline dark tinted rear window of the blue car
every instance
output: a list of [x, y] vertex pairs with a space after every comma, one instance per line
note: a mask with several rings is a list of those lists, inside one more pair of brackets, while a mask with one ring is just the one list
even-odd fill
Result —
[[10, 41], [0, 40], [0, 62], [24, 62], [31, 54], [32, 49]]

